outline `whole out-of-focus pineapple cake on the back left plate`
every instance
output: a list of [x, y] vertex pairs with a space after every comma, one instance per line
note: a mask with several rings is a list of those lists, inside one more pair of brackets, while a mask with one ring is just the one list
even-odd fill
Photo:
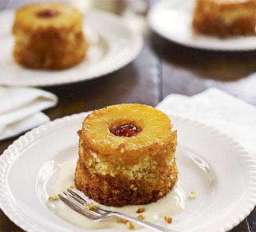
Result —
[[34, 3], [16, 12], [13, 56], [30, 68], [63, 69], [86, 55], [82, 14], [60, 2]]

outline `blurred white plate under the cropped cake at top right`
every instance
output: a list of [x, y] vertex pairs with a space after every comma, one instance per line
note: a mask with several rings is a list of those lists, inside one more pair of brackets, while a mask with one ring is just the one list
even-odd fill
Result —
[[194, 0], [162, 0], [148, 15], [152, 30], [180, 45], [207, 50], [254, 50], [256, 36], [234, 36], [227, 39], [194, 35], [191, 21]]

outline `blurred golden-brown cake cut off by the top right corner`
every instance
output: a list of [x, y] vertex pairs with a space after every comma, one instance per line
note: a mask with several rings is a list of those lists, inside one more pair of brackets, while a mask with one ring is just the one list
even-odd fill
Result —
[[193, 28], [203, 34], [254, 35], [256, 0], [196, 0]]

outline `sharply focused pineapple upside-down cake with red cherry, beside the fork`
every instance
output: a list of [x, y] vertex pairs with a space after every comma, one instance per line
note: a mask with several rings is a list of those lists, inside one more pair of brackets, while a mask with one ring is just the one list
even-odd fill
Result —
[[153, 107], [120, 104], [95, 110], [78, 134], [76, 186], [101, 204], [155, 202], [177, 182], [176, 131]]

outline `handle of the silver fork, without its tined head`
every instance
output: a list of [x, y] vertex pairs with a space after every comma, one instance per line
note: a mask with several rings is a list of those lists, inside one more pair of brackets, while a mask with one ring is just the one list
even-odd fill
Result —
[[[110, 216], [110, 215], [109, 215]], [[161, 226], [157, 226], [155, 224], [152, 224], [150, 222], [146, 222], [144, 220], [140, 220], [138, 218], [134, 218], [132, 216], [129, 216], [129, 215], [126, 215], [124, 213], [120, 213], [120, 212], [112, 212], [111, 213], [111, 216], [117, 216], [118, 218], [123, 218], [123, 219], [127, 219], [131, 222], [135, 222], [135, 223], [138, 223], [140, 224], [141, 226], [144, 226], [144, 227], [147, 227], [148, 229], [152, 229], [152, 230], [155, 230], [155, 231], [161, 231], [161, 232], [178, 232], [178, 231], [175, 231], [175, 230], [169, 230], [169, 229], [166, 229], [164, 227], [161, 227]]]

